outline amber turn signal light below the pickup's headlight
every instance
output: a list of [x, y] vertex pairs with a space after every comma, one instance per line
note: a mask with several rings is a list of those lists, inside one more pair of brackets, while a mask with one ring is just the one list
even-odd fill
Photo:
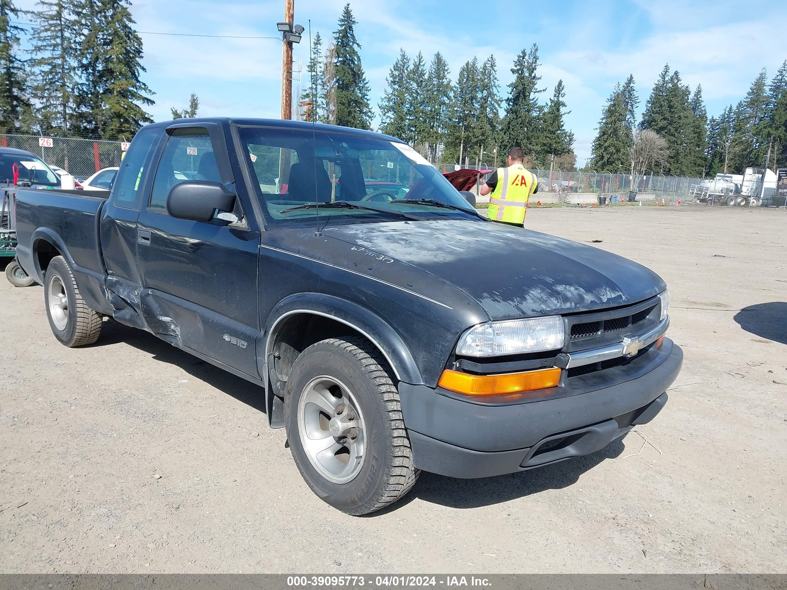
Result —
[[547, 389], [555, 387], [558, 382], [560, 382], [558, 367], [502, 375], [471, 375], [446, 369], [440, 375], [438, 385], [443, 389], [464, 393], [466, 396], [499, 396]]

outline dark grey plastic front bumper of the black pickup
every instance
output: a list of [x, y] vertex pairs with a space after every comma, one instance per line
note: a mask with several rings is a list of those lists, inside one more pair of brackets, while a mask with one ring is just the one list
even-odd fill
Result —
[[604, 448], [667, 403], [683, 352], [665, 338], [660, 363], [629, 381], [558, 399], [488, 405], [426, 385], [399, 385], [416, 467], [453, 478], [486, 478]]

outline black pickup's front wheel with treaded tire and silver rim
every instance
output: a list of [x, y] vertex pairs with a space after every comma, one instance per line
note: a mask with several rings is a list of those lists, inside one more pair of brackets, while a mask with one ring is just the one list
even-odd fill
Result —
[[[323, 404], [326, 397], [330, 399]], [[312, 403], [316, 399], [319, 402]], [[331, 407], [333, 418], [327, 422]], [[306, 348], [290, 373], [284, 411], [290, 451], [301, 476], [334, 508], [369, 514], [396, 502], [415, 485], [420, 471], [413, 466], [399, 393], [386, 361], [363, 338], [331, 338]], [[348, 423], [359, 426], [334, 429]], [[337, 432], [341, 434], [334, 436]], [[325, 450], [316, 452], [316, 447]], [[342, 457], [347, 461], [344, 470]]]

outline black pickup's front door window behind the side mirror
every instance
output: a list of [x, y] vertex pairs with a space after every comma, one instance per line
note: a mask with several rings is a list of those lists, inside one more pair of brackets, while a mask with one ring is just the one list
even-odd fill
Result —
[[216, 156], [205, 127], [181, 127], [172, 131], [153, 179], [150, 208], [165, 208], [169, 190], [184, 180], [221, 182]]

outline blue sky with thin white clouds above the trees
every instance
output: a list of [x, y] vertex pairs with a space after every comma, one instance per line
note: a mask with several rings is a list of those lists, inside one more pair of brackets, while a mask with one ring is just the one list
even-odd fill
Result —
[[[18, 0], [30, 8], [34, 0]], [[323, 39], [336, 28], [345, 0], [295, 0], [295, 22]], [[641, 108], [665, 62], [692, 87], [701, 83], [708, 114], [737, 102], [760, 68], [769, 77], [787, 58], [781, 35], [787, 3], [619, 0], [603, 2], [437, 2], [436, 0], [357, 0], [361, 59], [375, 107], [400, 47], [423, 51], [427, 61], [441, 51], [452, 76], [474, 55], [494, 53], [501, 91], [523, 47], [538, 43], [539, 72], [552, 94], [558, 79], [566, 86], [579, 158], [590, 155], [601, 109], [615, 82], [634, 74]], [[203, 35], [277, 35], [283, 2], [135, 0], [131, 12], [139, 31]], [[205, 116], [279, 116], [281, 43], [275, 39], [206, 39], [142, 35], [144, 80], [156, 93], [149, 111], [169, 119], [189, 94], [199, 95]], [[305, 68], [308, 37], [295, 46]], [[304, 85], [308, 77], [304, 72]], [[379, 119], [375, 120], [375, 124]], [[580, 159], [578, 164], [582, 165]]]

